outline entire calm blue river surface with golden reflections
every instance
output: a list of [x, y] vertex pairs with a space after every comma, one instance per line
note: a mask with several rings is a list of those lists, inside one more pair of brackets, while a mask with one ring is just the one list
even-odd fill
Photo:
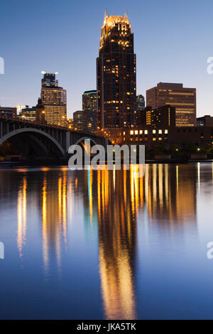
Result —
[[0, 179], [0, 318], [208, 318], [212, 163]]

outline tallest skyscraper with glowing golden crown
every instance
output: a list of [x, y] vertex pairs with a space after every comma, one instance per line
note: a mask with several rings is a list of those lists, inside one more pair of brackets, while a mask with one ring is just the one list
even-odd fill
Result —
[[133, 126], [136, 116], [136, 55], [131, 23], [105, 14], [97, 58], [98, 128]]

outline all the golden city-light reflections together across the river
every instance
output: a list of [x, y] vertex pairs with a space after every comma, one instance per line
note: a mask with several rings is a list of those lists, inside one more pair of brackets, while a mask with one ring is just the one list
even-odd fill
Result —
[[[158, 229], [167, 237], [173, 237], [178, 230], [179, 237], [183, 238], [185, 227], [196, 224], [196, 187], [197, 184], [200, 187], [200, 178], [200, 166], [194, 164], [146, 165], [143, 178], [136, 177], [136, 166], [131, 166], [130, 171], [43, 169], [42, 185], [37, 193], [45, 272], [48, 273], [54, 259], [60, 267], [62, 242], [65, 247], [67, 221], [72, 224], [72, 199], [75, 198], [75, 212], [76, 208], [84, 210], [84, 231], [95, 232], [98, 240], [104, 317], [137, 318], [138, 244], [144, 240], [144, 236], [138, 236], [138, 224], [146, 225], [147, 232]], [[18, 190], [20, 256], [26, 239], [29, 189], [33, 188], [23, 174]], [[86, 236], [89, 239], [91, 234]]]

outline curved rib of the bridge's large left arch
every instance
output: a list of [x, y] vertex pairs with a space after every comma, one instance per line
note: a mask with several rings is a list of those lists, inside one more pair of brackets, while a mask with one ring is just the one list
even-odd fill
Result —
[[[2, 136], [0, 138], [0, 144], [4, 143], [4, 141], [6, 140], [10, 140], [15, 136], [19, 136], [21, 134], [38, 134], [40, 136], [43, 136], [44, 139], [47, 139], [47, 141], [49, 141], [51, 144], [53, 144], [53, 146], [55, 146], [55, 148], [58, 150], [58, 152], [60, 153], [60, 156], [65, 157], [66, 153], [65, 150], [62, 148], [62, 146], [58, 143], [58, 141], [55, 140], [55, 138], [53, 138], [53, 136], [50, 136], [50, 134], [47, 134], [45, 131], [41, 131], [40, 129], [35, 129], [35, 128], [21, 128], [21, 129], [16, 129], [13, 130], [11, 132], [9, 132], [8, 134], [5, 134], [4, 136]], [[43, 151], [46, 152], [44, 145], [40, 142], [38, 139], [34, 138], [35, 143], [38, 144], [38, 146], [40, 148], [43, 148]]]

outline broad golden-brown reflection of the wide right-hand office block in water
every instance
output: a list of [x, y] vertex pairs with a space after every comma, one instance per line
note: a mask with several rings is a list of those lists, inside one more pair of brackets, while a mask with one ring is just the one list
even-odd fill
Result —
[[146, 166], [145, 201], [148, 220], [173, 232], [173, 223], [196, 222], [196, 173], [194, 165]]

